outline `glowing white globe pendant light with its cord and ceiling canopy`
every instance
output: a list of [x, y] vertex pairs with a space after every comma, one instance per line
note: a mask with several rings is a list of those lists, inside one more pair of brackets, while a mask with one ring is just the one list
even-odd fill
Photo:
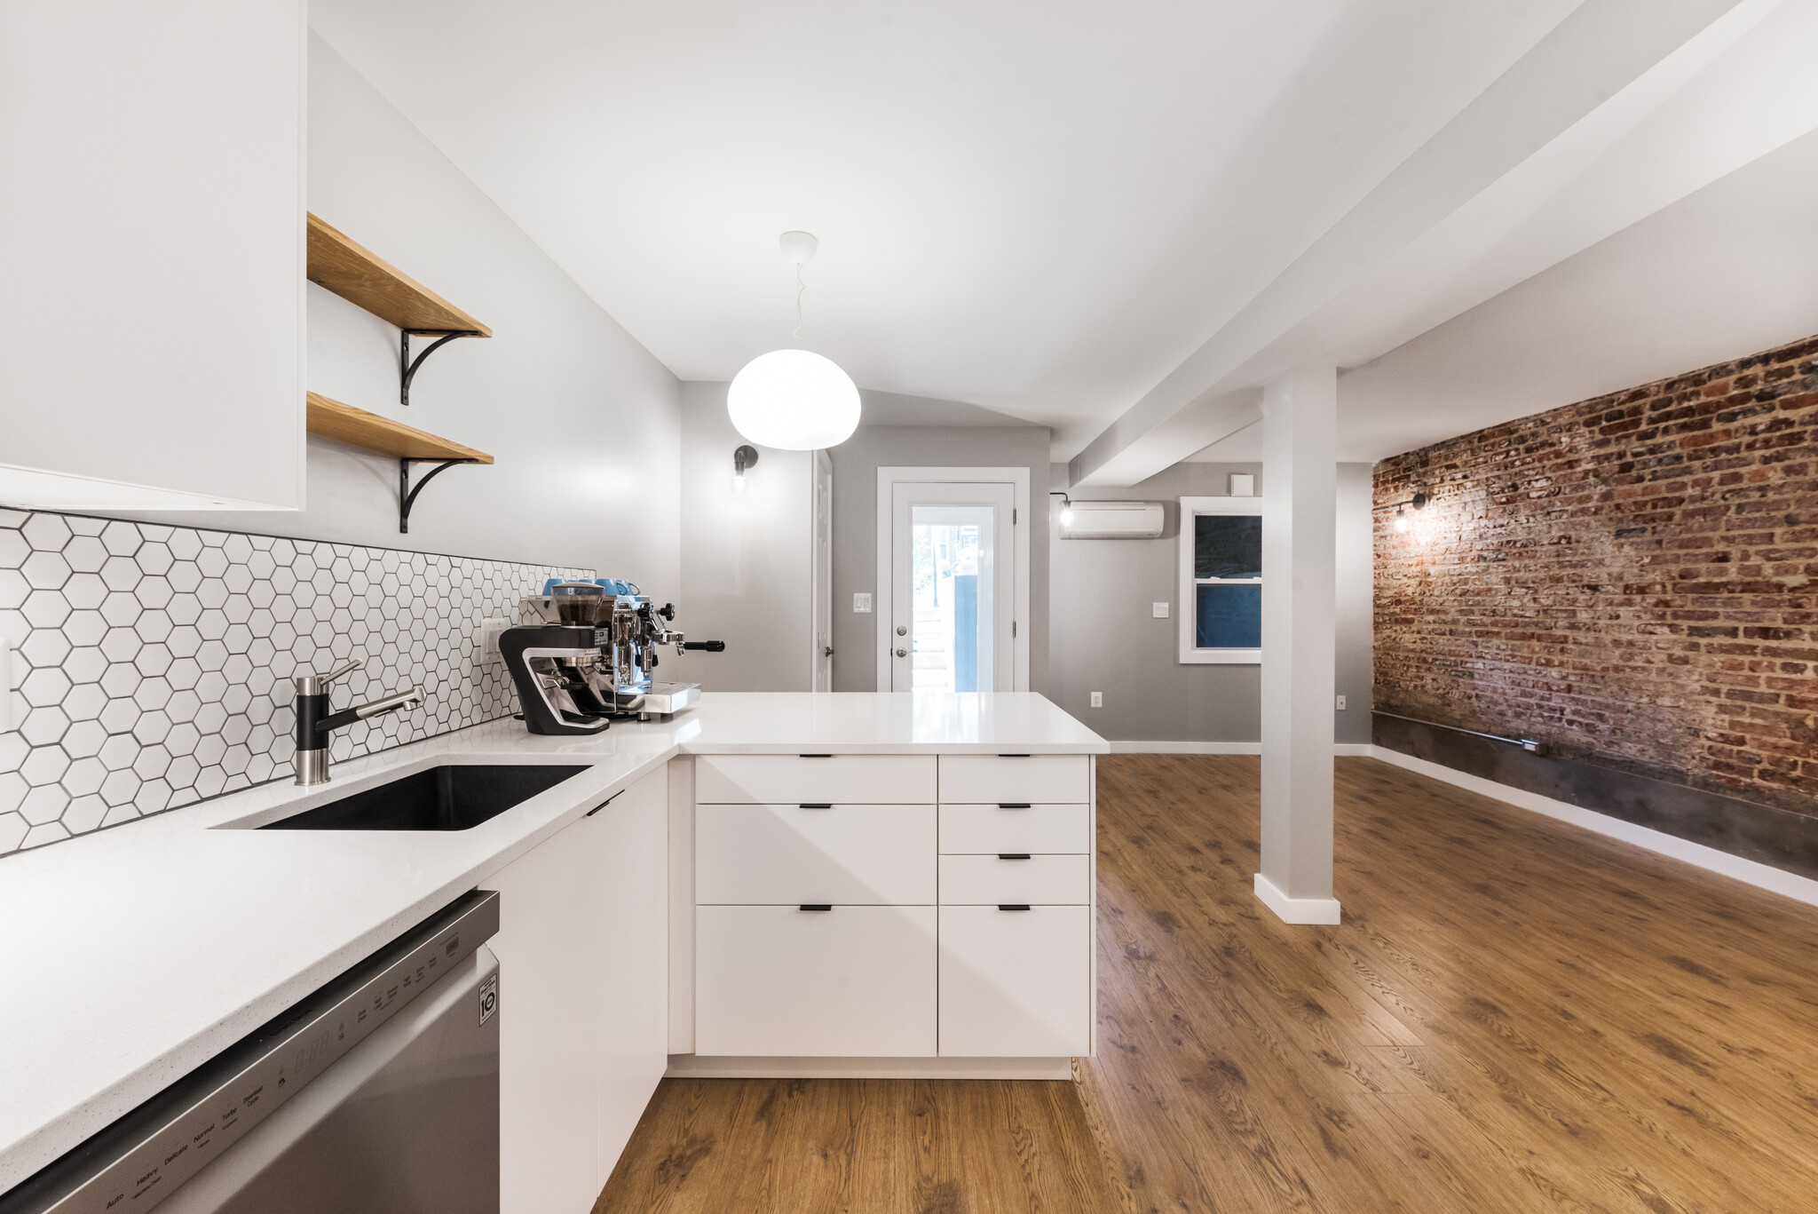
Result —
[[[796, 268], [796, 329], [802, 337], [802, 266], [814, 258], [818, 240], [785, 231], [784, 257]], [[833, 359], [811, 349], [773, 349], [733, 377], [725, 393], [733, 426], [758, 446], [814, 451], [838, 446], [858, 430], [858, 386]]]

